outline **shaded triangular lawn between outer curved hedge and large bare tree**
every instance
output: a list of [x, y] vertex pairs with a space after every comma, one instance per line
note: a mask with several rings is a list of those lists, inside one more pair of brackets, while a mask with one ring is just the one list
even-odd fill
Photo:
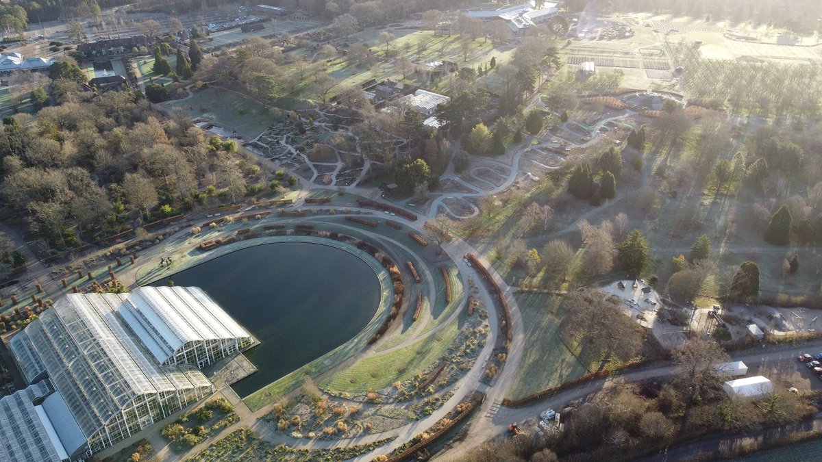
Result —
[[517, 293], [515, 298], [522, 312], [528, 348], [508, 397], [522, 398], [587, 373], [557, 335], [565, 315], [561, 298], [544, 293]]

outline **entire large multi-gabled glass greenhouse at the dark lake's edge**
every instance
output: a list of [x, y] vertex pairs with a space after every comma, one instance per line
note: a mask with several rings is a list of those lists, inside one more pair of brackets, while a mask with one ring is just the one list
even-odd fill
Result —
[[[16, 363], [34, 385], [15, 398], [25, 413], [0, 404], [0, 425], [26, 426], [31, 438], [51, 441], [61, 456], [44, 460], [88, 457], [210, 395], [214, 386], [197, 367], [253, 342], [196, 287], [68, 294], [12, 337]], [[35, 406], [35, 419], [24, 398], [41, 383], [53, 391], [42, 412]], [[6, 436], [20, 447], [29, 437]], [[11, 446], [7, 460], [38, 460]]]

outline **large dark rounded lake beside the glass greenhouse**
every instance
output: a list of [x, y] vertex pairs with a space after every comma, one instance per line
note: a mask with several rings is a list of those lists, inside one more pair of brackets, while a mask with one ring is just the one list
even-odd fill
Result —
[[344, 344], [380, 303], [374, 270], [317, 243], [247, 247], [151, 285], [197, 286], [261, 344], [246, 356], [259, 370], [232, 387], [245, 397]]

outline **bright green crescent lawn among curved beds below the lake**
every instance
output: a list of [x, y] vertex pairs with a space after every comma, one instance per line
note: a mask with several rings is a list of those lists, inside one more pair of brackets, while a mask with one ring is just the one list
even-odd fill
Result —
[[[451, 321], [436, 335], [404, 348], [365, 358], [320, 384], [321, 388], [348, 393], [381, 390], [395, 381], [404, 381], [434, 363], [459, 333], [459, 320]], [[439, 339], [439, 341], [437, 341]], [[402, 372], [399, 372], [402, 370]], [[376, 377], [372, 377], [376, 375]]]

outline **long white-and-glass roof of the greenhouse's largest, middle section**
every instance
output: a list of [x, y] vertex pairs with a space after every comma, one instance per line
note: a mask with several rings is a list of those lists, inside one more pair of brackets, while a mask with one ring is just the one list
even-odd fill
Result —
[[115, 313], [128, 297], [68, 294], [19, 334], [28, 335], [86, 438], [137, 396], [209, 383], [195, 369], [161, 367], [145, 353]]

